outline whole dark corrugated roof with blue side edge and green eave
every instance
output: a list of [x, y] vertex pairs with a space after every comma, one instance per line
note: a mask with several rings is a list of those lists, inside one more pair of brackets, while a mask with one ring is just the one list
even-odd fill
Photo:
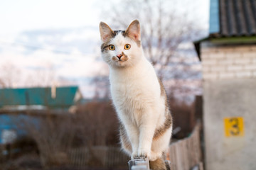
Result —
[[194, 41], [201, 60], [200, 44], [209, 40], [219, 44], [256, 43], [256, 0], [210, 0], [209, 35]]

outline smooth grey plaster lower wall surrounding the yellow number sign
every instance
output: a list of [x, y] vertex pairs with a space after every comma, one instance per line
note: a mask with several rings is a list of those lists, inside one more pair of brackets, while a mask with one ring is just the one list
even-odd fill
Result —
[[[256, 169], [256, 79], [205, 81], [203, 89], [206, 169]], [[230, 117], [243, 118], [243, 136], [225, 136]]]

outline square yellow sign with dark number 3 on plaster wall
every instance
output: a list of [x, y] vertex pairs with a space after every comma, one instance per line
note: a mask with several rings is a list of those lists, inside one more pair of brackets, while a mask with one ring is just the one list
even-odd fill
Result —
[[245, 135], [242, 117], [224, 118], [225, 137], [241, 137]]

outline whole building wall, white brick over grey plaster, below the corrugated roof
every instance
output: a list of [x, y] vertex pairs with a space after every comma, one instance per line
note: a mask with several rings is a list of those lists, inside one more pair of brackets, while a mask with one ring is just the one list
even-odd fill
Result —
[[[256, 45], [202, 46], [206, 169], [256, 169]], [[227, 137], [233, 117], [244, 134]]]

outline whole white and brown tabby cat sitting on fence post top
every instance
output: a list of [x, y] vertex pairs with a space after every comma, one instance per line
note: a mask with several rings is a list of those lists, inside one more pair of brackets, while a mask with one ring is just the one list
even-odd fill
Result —
[[144, 56], [139, 21], [132, 21], [127, 30], [112, 30], [101, 22], [100, 37], [122, 149], [132, 159], [147, 157], [151, 169], [166, 169], [172, 117], [164, 86]]

